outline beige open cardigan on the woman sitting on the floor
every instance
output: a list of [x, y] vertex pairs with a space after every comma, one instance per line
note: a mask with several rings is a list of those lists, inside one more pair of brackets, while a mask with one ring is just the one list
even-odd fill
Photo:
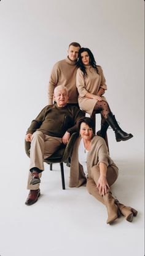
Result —
[[[71, 157], [71, 168], [70, 168], [70, 179], [69, 187], [79, 187], [86, 182], [85, 173], [83, 171], [82, 165], [79, 163], [78, 159], [78, 148], [81, 137], [76, 139], [74, 144], [72, 157]], [[88, 178], [91, 178], [91, 169], [96, 166], [98, 168], [99, 163], [105, 163], [116, 170], [118, 176], [118, 168], [116, 164], [112, 161], [108, 154], [108, 148], [103, 138], [100, 136], [94, 136], [92, 139], [92, 145], [87, 155], [87, 171]]]

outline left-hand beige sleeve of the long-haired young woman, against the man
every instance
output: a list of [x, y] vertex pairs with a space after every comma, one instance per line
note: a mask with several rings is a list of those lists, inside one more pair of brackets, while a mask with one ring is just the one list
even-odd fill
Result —
[[76, 86], [80, 97], [84, 97], [85, 94], [88, 93], [88, 91], [85, 89], [85, 79], [80, 68], [77, 69]]

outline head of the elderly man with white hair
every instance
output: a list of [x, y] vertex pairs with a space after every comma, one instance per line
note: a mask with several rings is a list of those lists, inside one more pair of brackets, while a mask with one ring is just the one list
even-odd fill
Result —
[[68, 93], [65, 89], [56, 89], [54, 93], [54, 100], [58, 107], [65, 107], [68, 102]]

